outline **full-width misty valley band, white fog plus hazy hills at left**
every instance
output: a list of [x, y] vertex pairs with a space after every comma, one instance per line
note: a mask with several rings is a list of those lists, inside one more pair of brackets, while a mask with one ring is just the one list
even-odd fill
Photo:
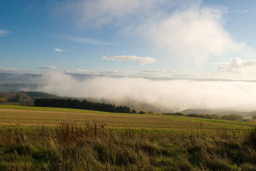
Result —
[[[256, 110], [254, 81], [142, 78], [90, 74], [0, 74], [0, 87], [127, 105], [136, 110], [247, 115]], [[3, 90], [2, 90], [3, 91]], [[189, 111], [189, 112], [188, 112]]]

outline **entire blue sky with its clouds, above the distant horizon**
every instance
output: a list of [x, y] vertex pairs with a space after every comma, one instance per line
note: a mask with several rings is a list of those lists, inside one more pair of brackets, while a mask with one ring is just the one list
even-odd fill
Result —
[[0, 72], [256, 79], [256, 1], [0, 1]]

